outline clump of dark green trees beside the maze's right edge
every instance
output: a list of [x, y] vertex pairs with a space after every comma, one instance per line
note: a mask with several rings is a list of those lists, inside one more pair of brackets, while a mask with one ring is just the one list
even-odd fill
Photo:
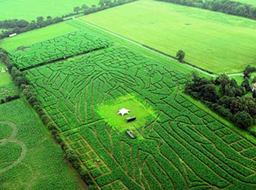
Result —
[[[252, 66], [248, 68], [256, 70]], [[244, 75], [241, 85], [236, 80], [222, 73], [216, 79], [207, 79], [199, 77], [193, 72], [193, 79], [186, 84], [184, 92], [193, 98], [202, 101], [210, 109], [217, 112], [222, 117], [227, 118], [241, 129], [256, 124], [256, 89], [253, 89], [252, 97], [244, 96], [247, 92], [252, 91], [249, 75]], [[256, 77], [253, 82], [256, 82]]]

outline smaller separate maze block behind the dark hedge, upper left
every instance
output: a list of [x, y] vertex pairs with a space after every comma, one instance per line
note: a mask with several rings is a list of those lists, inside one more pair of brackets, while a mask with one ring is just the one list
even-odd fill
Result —
[[19, 47], [10, 52], [10, 58], [19, 68], [24, 69], [39, 64], [42, 65], [49, 61], [87, 53], [109, 45], [110, 42], [108, 40], [80, 30], [31, 46]]

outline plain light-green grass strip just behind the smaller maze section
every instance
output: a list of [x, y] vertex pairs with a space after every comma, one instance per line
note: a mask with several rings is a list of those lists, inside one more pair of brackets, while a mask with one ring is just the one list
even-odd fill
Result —
[[7, 51], [10, 51], [16, 49], [16, 47], [28, 46], [30, 44], [35, 44], [36, 42], [46, 41], [76, 30], [78, 30], [76, 27], [72, 27], [72, 25], [67, 24], [67, 22], [61, 22], [23, 34], [18, 34], [15, 37], [6, 38], [0, 43], [0, 46]]

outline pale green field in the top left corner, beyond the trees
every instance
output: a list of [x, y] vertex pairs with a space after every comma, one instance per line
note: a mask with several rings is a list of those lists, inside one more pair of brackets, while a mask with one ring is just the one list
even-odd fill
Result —
[[86, 4], [98, 5], [98, 0], [4, 0], [0, 1], [0, 20], [5, 19], [25, 19], [35, 20], [37, 16], [51, 15], [61, 16], [73, 12], [75, 6]]

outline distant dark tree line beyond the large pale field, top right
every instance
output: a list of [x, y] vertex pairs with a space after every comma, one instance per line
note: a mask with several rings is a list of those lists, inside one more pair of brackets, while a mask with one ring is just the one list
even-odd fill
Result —
[[256, 19], [256, 7], [230, 0], [157, 0]]

